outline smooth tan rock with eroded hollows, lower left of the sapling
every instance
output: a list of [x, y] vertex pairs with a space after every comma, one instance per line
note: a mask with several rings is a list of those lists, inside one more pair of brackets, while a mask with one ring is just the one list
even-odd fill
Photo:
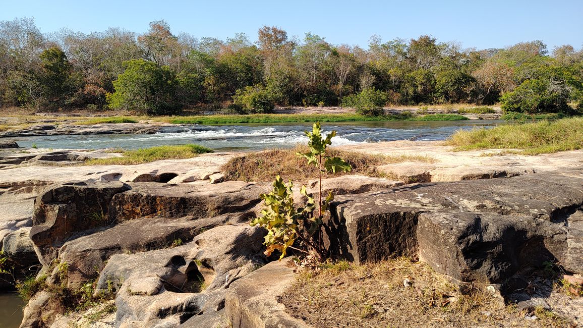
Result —
[[115, 254], [97, 288], [118, 290], [119, 327], [175, 327], [196, 316], [217, 322], [227, 288], [265, 264], [264, 235], [262, 228], [224, 225], [171, 249]]

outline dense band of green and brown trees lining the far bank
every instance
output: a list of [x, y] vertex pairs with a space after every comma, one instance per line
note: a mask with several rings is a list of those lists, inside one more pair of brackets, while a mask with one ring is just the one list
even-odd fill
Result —
[[[359, 98], [360, 97], [360, 98]], [[128, 109], [171, 114], [198, 107], [240, 112], [336, 106], [500, 103], [504, 110], [583, 111], [583, 50], [542, 41], [462, 49], [431, 36], [367, 49], [303, 40], [278, 27], [218, 40], [118, 28], [43, 34], [33, 19], [0, 22], [0, 107]], [[367, 100], [367, 99], [365, 99]]]

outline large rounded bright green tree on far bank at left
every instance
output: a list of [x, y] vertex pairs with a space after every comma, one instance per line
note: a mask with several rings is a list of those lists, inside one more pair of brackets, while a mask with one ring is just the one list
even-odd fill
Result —
[[172, 114], [180, 109], [175, 74], [169, 67], [140, 59], [127, 61], [124, 67], [125, 72], [113, 82], [115, 92], [108, 96], [111, 108], [145, 114]]

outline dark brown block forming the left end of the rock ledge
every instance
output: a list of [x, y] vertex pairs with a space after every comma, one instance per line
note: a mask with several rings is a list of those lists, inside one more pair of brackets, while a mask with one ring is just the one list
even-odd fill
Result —
[[52, 186], [38, 196], [30, 238], [41, 263], [51, 263], [59, 247], [73, 236], [110, 225], [110, 201], [128, 189], [121, 182], [70, 182]]

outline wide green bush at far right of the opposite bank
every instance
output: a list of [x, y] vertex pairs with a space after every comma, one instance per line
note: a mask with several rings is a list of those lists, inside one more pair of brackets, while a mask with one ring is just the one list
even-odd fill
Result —
[[570, 110], [569, 95], [569, 88], [552, 80], [531, 79], [522, 82], [514, 91], [504, 93], [500, 102], [505, 113], [558, 113]]

